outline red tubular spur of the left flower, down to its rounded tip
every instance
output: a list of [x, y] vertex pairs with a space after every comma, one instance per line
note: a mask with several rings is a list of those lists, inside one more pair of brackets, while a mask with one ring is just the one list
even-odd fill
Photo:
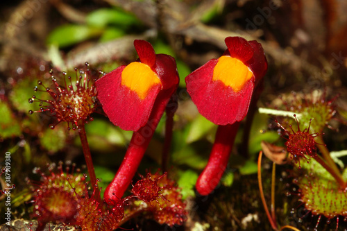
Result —
[[149, 142], [153, 137], [155, 128], [157, 128], [160, 118], [164, 113], [167, 102], [170, 99], [168, 95], [171, 96], [167, 91], [162, 91], [158, 94], [151, 115], [149, 116], [149, 121], [147, 121], [145, 126], [139, 128], [139, 130], [133, 133], [124, 160], [121, 162], [121, 166], [119, 167], [115, 178], [105, 189], [104, 197], [107, 203], [112, 204], [113, 201], [119, 200], [126, 189], [128, 189], [128, 186], [130, 185], [131, 180], [133, 180], [137, 168], [139, 167], [139, 163], [149, 146]]

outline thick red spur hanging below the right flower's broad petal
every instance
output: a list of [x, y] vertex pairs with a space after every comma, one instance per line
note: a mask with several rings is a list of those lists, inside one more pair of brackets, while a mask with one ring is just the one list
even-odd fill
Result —
[[218, 127], [210, 159], [196, 182], [196, 190], [199, 194], [206, 196], [217, 187], [226, 170], [239, 124], [240, 122], [235, 122]]

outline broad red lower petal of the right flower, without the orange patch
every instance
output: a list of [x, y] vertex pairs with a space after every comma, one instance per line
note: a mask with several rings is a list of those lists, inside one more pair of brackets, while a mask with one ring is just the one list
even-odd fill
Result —
[[234, 92], [219, 80], [212, 82], [217, 62], [216, 59], [210, 60], [189, 74], [185, 78], [187, 92], [203, 117], [213, 123], [226, 125], [242, 121], [251, 102], [254, 79], [248, 80], [239, 92]]

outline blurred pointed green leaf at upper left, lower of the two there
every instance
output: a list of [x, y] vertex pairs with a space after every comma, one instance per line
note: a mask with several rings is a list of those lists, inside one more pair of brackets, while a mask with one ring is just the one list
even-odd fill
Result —
[[56, 44], [59, 47], [70, 46], [83, 42], [103, 33], [103, 29], [85, 25], [67, 24], [58, 26], [47, 37], [47, 44]]

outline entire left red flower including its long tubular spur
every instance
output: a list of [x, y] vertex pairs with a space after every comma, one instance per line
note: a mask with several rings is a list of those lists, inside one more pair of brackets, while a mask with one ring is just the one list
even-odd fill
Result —
[[110, 121], [134, 134], [119, 170], [105, 190], [108, 202], [121, 198], [135, 176], [155, 128], [178, 86], [176, 62], [155, 54], [149, 42], [135, 40], [139, 60], [96, 81], [99, 101]]

